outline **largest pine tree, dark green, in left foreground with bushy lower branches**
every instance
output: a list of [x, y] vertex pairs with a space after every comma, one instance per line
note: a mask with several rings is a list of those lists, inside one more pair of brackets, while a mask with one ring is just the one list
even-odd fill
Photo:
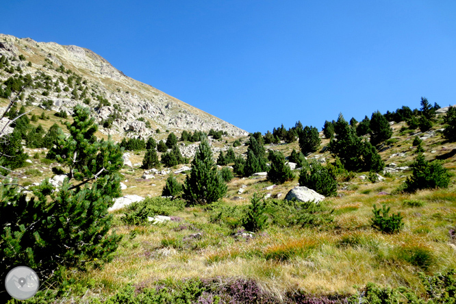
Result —
[[51, 149], [69, 173], [59, 191], [45, 179], [30, 195], [0, 188], [0, 277], [17, 264], [46, 280], [60, 267], [86, 269], [112, 259], [120, 236], [110, 233], [107, 208], [121, 194], [123, 151], [110, 139], [94, 138], [90, 110], [77, 105], [69, 136], [62, 131]]

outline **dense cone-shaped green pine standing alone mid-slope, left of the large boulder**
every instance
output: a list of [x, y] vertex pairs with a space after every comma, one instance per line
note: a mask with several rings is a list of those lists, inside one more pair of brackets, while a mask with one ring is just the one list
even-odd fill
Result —
[[192, 161], [192, 169], [186, 177], [183, 192], [192, 205], [212, 203], [227, 192], [227, 184], [212, 160], [212, 151], [207, 140], [202, 140], [199, 144], [199, 149]]

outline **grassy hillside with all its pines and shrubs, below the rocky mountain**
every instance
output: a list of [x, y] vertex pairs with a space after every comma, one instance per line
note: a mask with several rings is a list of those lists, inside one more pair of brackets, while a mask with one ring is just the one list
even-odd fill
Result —
[[[14, 81], [0, 86], [3, 121], [20, 116], [2, 134], [0, 249], [42, 274], [29, 303], [454, 303], [454, 107], [114, 142], [88, 108], [37, 107]], [[325, 199], [284, 199], [298, 184]], [[144, 199], [107, 212], [129, 194]], [[22, 236], [27, 254], [11, 249]]]

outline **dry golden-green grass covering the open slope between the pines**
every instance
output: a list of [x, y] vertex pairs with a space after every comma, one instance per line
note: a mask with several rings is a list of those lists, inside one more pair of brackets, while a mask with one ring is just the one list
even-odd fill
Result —
[[[41, 110], [34, 110], [40, 114]], [[47, 112], [49, 113], [49, 112]], [[49, 114], [49, 121], [38, 121], [45, 127], [59, 122], [61, 118]], [[381, 152], [382, 159], [388, 165], [408, 166], [414, 160], [411, 147], [413, 137], [407, 131], [401, 133], [403, 123], [393, 126], [393, 137], [398, 142]], [[438, 129], [436, 126], [433, 129]], [[165, 134], [160, 134], [165, 137]], [[234, 139], [229, 138], [231, 143]], [[320, 149], [329, 140], [323, 139]], [[223, 146], [219, 142], [214, 145]], [[425, 155], [429, 160], [435, 157], [451, 155], [456, 143], [448, 143], [440, 133], [425, 140]], [[281, 144], [270, 147], [289, 155], [292, 149], [298, 149], [297, 143]], [[30, 155], [35, 149], [26, 149]], [[38, 151], [38, 149], [36, 149]], [[236, 152], [244, 152], [245, 146]], [[435, 151], [435, 153], [431, 153]], [[404, 157], [394, 153], [406, 153]], [[133, 164], [142, 162], [144, 151], [131, 153]], [[328, 152], [314, 153], [331, 160]], [[446, 155], [446, 156], [445, 156]], [[444, 166], [455, 172], [455, 156], [444, 160]], [[27, 176], [30, 169], [42, 170], [36, 176]], [[36, 173], [36, 171], [34, 171]], [[159, 196], [166, 181], [166, 176], [157, 175], [155, 179], [141, 179], [143, 170], [138, 167], [124, 168], [124, 181], [127, 190], [124, 194], [139, 194], [143, 197]], [[17, 176], [27, 176], [21, 182], [39, 181], [50, 177], [49, 165], [40, 160], [31, 166], [18, 170]], [[357, 174], [358, 176], [362, 173]], [[364, 173], [366, 174], [366, 173]], [[102, 270], [89, 273], [73, 274], [77, 281], [84, 284], [95, 281], [92, 292], [104, 296], [112, 294], [127, 283], [144, 283], [157, 279], [183, 279], [188, 277], [247, 277], [259, 281], [260, 286], [273, 294], [283, 294], [286, 290], [301, 289], [307, 292], [323, 294], [354, 293], [355, 286], [364, 286], [367, 282], [381, 286], [407, 286], [416, 292], [424, 292], [418, 279], [419, 272], [428, 274], [448, 268], [456, 268], [456, 250], [450, 245], [448, 230], [456, 227], [456, 194], [452, 178], [450, 188], [446, 190], [423, 190], [415, 194], [383, 195], [391, 193], [410, 172], [394, 173], [385, 181], [370, 183], [355, 177], [348, 183], [341, 183], [338, 197], [326, 200], [326, 204], [335, 210], [334, 225], [327, 229], [270, 226], [259, 233], [253, 240], [238, 240], [231, 234], [233, 230], [226, 225], [209, 222], [210, 212], [202, 207], [188, 207], [179, 216], [181, 221], [171, 221], [166, 225], [148, 225], [128, 227], [122, 224], [122, 212], [114, 214], [118, 233], [125, 234], [113, 262]], [[33, 174], [32, 174], [33, 175]], [[183, 181], [185, 175], [178, 175]], [[228, 185], [227, 205], [247, 205], [255, 192], [286, 194], [296, 186], [294, 181], [277, 186], [274, 190], [262, 190], [272, 183], [266, 179], [233, 179]], [[238, 195], [240, 186], [246, 185], [242, 200], [231, 201]], [[406, 200], [424, 202], [422, 207], [407, 207]], [[385, 235], [370, 227], [372, 205], [386, 204], [392, 212], [401, 212], [405, 227], [401, 233]], [[183, 240], [191, 233], [201, 232], [199, 240]], [[130, 238], [136, 233], [135, 238]], [[285, 253], [287, 259], [271, 257]], [[429, 265], [422, 264], [419, 258]], [[418, 260], [418, 262], [416, 262]], [[414, 262], [415, 261], [415, 262]], [[93, 284], [92, 284], [93, 285]]]

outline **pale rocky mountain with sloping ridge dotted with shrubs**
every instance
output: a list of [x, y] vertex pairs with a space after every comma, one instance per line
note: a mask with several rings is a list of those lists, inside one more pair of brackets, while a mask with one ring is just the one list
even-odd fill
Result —
[[248, 134], [127, 77], [89, 49], [0, 34], [2, 55], [10, 59], [10, 67], [0, 73], [0, 81], [10, 77], [31, 79], [23, 100], [68, 113], [75, 104], [85, 103], [97, 114], [100, 125], [105, 126], [100, 128], [103, 134], [148, 136], [155, 129], [206, 132], [214, 129], [233, 136]]

